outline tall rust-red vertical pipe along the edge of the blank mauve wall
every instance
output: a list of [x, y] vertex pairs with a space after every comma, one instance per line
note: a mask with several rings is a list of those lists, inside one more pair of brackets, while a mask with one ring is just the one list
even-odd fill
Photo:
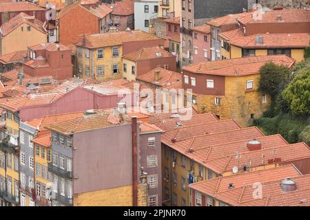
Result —
[[138, 206], [138, 134], [136, 116], [132, 116], [132, 206]]

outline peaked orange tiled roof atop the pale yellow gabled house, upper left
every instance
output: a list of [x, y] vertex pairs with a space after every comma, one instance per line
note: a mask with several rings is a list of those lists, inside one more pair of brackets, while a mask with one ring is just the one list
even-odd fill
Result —
[[32, 28], [35, 28], [45, 34], [42, 21], [39, 21], [38, 19], [34, 19], [33, 16], [29, 16], [28, 14], [21, 12], [17, 14], [17, 16], [10, 19], [7, 23], [4, 23], [3, 25], [1, 25], [1, 28], [0, 28], [1, 35], [6, 36], [10, 34], [10, 32], [18, 28], [19, 25], [21, 25], [22, 23], [27, 23], [28, 25], [32, 26]]

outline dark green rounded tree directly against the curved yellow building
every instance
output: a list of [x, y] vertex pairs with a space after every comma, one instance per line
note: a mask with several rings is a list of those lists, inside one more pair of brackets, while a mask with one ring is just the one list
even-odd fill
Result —
[[260, 67], [259, 91], [270, 94], [271, 99], [275, 100], [289, 84], [289, 68], [285, 65], [276, 65], [272, 62]]

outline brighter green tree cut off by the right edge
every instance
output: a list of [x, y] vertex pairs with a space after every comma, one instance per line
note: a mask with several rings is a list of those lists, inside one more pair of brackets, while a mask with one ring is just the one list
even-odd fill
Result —
[[310, 115], [310, 69], [301, 69], [282, 92], [281, 98], [294, 115]]

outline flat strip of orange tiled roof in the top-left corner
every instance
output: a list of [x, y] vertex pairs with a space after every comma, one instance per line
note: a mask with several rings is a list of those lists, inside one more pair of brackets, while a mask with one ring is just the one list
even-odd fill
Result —
[[44, 8], [38, 7], [28, 1], [0, 3], [0, 12], [25, 12], [25, 11], [43, 11]]

